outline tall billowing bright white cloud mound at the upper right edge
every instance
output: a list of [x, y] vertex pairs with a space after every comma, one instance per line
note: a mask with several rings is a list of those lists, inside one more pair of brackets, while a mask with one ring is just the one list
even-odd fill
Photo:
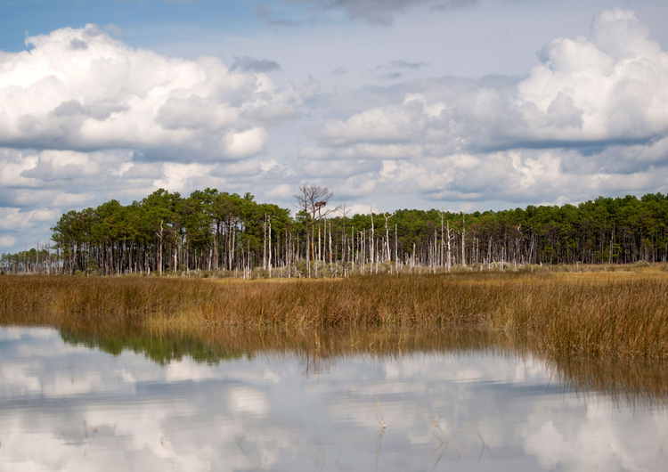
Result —
[[[633, 12], [600, 12], [589, 39], [556, 39], [517, 85], [534, 139], [646, 139], [668, 127], [668, 54]], [[537, 110], [528, 109], [535, 106]], [[538, 126], [536, 126], [538, 125]]]

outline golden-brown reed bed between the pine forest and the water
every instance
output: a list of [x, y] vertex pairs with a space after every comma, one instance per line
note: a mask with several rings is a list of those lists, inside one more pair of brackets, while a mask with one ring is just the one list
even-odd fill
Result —
[[350, 279], [0, 277], [4, 324], [198, 327], [484, 327], [542, 351], [668, 357], [668, 274], [456, 273]]

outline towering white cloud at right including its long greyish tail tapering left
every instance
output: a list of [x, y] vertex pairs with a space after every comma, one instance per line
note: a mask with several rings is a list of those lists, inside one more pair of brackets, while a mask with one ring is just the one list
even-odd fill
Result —
[[559, 38], [513, 87], [444, 79], [322, 126], [324, 142], [427, 140], [511, 149], [650, 140], [668, 129], [668, 53], [632, 12], [601, 12], [589, 38]]

